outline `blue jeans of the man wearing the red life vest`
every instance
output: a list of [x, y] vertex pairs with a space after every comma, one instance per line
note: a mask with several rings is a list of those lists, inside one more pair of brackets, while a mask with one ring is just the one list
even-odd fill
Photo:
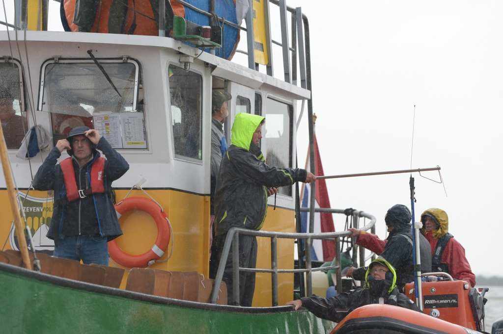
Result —
[[99, 236], [68, 236], [59, 239], [54, 245], [54, 256], [76, 260], [84, 264], [100, 264], [108, 266], [107, 237]]

